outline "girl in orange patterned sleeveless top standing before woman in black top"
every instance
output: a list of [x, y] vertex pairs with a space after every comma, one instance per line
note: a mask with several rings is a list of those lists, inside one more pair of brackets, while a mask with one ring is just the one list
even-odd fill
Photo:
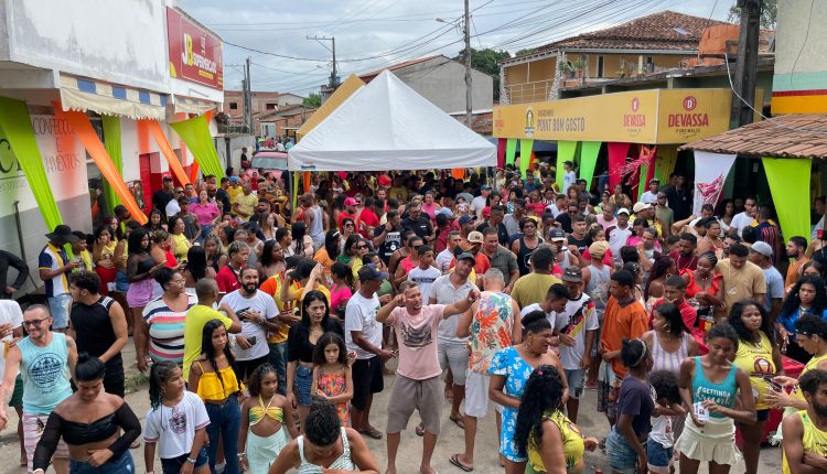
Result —
[[335, 405], [342, 425], [351, 425], [353, 377], [344, 340], [336, 333], [322, 334], [313, 349], [313, 386], [310, 392]]

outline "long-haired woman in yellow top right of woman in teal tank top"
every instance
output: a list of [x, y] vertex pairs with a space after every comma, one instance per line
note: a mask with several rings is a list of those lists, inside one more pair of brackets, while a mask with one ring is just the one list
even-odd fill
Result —
[[784, 375], [781, 351], [775, 343], [775, 331], [769, 315], [756, 301], [744, 300], [732, 305], [729, 323], [738, 333], [738, 353], [734, 365], [750, 376], [755, 397], [758, 421], [754, 424], [735, 422], [743, 439], [743, 457], [747, 474], [758, 472], [761, 439], [770, 418], [771, 403], [766, 399], [769, 380]]

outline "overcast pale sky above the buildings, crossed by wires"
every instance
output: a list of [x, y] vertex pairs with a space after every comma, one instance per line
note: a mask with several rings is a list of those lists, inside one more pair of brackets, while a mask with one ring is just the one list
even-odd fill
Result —
[[[471, 47], [512, 53], [624, 23], [663, 10], [726, 20], [734, 0], [471, 0]], [[224, 43], [224, 87], [240, 89], [249, 56], [255, 90], [307, 96], [327, 83], [335, 36], [339, 75], [445, 54], [463, 47], [455, 22], [462, 0], [180, 0], [190, 15]], [[437, 19], [445, 22], [438, 22]], [[227, 43], [296, 58], [243, 50]], [[302, 61], [313, 60], [313, 61]]]

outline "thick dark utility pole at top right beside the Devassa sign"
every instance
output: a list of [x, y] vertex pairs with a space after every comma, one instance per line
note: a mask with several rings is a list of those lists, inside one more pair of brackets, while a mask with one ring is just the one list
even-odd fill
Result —
[[[735, 75], [732, 85], [735, 93], [732, 96], [730, 122], [732, 127], [743, 127], [752, 123], [755, 103], [755, 83], [758, 76], [759, 33], [761, 32], [762, 0], [738, 0], [741, 9], [741, 30], [738, 35], [738, 54], [735, 56]], [[761, 107], [761, 105], [759, 105]]]

